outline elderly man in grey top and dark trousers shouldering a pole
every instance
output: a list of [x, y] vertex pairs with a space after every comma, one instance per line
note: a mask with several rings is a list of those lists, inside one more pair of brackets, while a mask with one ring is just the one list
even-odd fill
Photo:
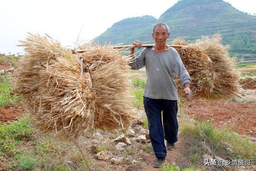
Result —
[[[165, 23], [157, 23], [152, 30], [155, 45], [143, 49], [130, 63], [133, 70], [146, 66], [148, 78], [143, 97], [150, 139], [156, 157], [153, 161], [154, 167], [162, 166], [167, 154], [166, 148], [174, 149], [174, 142], [178, 141], [178, 91], [173, 81], [174, 73], [180, 76], [188, 99], [192, 95], [189, 87], [191, 79], [178, 52], [166, 45], [169, 36], [169, 27]], [[142, 47], [139, 40], [134, 41], [132, 45], [136, 48]], [[131, 48], [130, 55], [134, 57], [134, 48]], [[164, 139], [167, 141], [166, 146]]]

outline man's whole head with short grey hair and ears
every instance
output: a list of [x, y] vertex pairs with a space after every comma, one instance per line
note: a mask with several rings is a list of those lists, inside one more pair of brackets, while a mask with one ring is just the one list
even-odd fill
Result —
[[165, 23], [157, 23], [152, 30], [152, 37], [155, 45], [165, 45], [167, 38], [170, 36], [169, 27]]

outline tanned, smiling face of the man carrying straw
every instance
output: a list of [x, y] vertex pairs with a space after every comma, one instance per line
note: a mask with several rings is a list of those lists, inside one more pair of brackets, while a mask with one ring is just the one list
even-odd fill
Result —
[[155, 41], [155, 45], [163, 46], [166, 44], [166, 40], [169, 37], [170, 33], [167, 33], [165, 26], [156, 26], [152, 37]]

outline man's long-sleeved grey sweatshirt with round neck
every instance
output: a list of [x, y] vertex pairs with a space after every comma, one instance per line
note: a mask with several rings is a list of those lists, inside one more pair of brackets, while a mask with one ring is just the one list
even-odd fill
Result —
[[132, 70], [146, 66], [148, 79], [143, 96], [153, 99], [178, 100], [177, 87], [173, 81], [174, 73], [180, 76], [183, 86], [191, 81], [179, 53], [173, 48], [163, 53], [145, 48], [132, 60], [130, 66]]

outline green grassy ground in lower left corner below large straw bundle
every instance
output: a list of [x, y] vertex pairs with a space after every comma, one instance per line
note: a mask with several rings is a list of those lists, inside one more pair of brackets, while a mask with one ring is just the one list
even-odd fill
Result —
[[[68, 143], [52, 140], [52, 134], [36, 132], [30, 115], [17, 121], [0, 124], [1, 166], [7, 170], [85, 170], [81, 154]], [[84, 149], [84, 154], [88, 156]], [[67, 161], [73, 161], [69, 165]], [[90, 161], [91, 165], [95, 165]]]

